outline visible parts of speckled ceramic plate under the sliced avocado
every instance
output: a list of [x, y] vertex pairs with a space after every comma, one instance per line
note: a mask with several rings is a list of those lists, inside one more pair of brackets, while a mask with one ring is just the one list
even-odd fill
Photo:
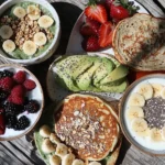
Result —
[[[103, 53], [95, 53], [90, 55], [97, 55], [100, 57], [109, 57], [110, 55], [103, 54]], [[57, 74], [55, 72], [55, 63], [57, 59], [62, 58], [64, 56], [57, 57], [52, 65], [48, 68], [47, 73], [47, 78], [46, 78], [46, 85], [47, 85], [47, 91], [48, 96], [53, 101], [61, 101], [64, 99], [66, 96], [74, 94], [74, 91], [66, 90], [65, 88], [61, 87], [57, 84]], [[80, 94], [89, 94], [89, 95], [95, 95], [98, 96], [107, 101], [113, 101], [113, 100], [119, 100], [122, 97], [122, 94], [113, 94], [113, 92], [88, 92], [88, 91], [80, 91]]]

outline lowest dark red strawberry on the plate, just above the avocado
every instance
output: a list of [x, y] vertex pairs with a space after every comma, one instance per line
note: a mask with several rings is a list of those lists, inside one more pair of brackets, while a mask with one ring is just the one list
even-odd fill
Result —
[[90, 36], [85, 38], [81, 43], [81, 46], [86, 52], [95, 52], [100, 48], [97, 36]]

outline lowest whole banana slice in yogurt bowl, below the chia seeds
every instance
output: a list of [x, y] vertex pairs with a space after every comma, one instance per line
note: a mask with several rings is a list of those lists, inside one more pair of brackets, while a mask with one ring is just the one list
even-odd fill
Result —
[[156, 128], [152, 129], [150, 132], [150, 138], [153, 142], [161, 142], [163, 140], [161, 130]]

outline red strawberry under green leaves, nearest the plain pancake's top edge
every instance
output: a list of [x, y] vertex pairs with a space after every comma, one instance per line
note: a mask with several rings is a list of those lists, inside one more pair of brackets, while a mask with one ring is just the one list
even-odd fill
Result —
[[129, 10], [128, 10], [128, 9], [124, 9], [122, 6], [114, 6], [114, 4], [111, 4], [111, 8], [110, 8], [110, 15], [111, 15], [111, 18], [113, 18], [113, 19], [123, 20], [123, 19], [125, 19], [125, 18], [129, 18], [129, 16], [130, 16], [130, 13], [129, 13]]

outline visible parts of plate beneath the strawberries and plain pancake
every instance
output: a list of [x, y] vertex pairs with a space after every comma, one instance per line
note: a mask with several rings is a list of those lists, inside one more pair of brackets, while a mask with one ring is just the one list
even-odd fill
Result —
[[[140, 13], [148, 13], [148, 11], [141, 6], [139, 2], [136, 2], [135, 0], [131, 0], [134, 1], [134, 4], [136, 7], [140, 7], [139, 12]], [[68, 41], [68, 45], [66, 48], [66, 54], [79, 54], [79, 53], [86, 53], [82, 48], [81, 48], [81, 41], [82, 41], [82, 36], [79, 33], [79, 29], [81, 26], [81, 24], [85, 22], [85, 14], [84, 12], [80, 14], [80, 16], [77, 19], [73, 31], [70, 33], [70, 37]], [[100, 50], [100, 53], [109, 53], [109, 54], [114, 54], [112, 48], [105, 48], [105, 50]]]

